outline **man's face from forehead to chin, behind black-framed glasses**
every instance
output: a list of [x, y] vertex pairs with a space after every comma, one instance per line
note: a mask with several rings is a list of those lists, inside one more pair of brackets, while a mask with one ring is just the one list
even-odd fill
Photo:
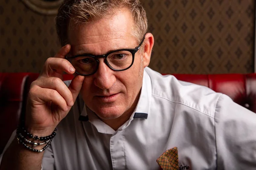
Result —
[[[133, 19], [127, 10], [116, 11], [111, 17], [71, 28], [68, 38], [71, 54], [102, 55], [121, 48], [135, 48], [138, 42], [132, 36]], [[71, 24], [72, 26], [72, 24]], [[141, 49], [135, 54], [134, 64], [125, 71], [113, 71], [99, 59], [98, 71], [85, 76], [81, 95], [88, 108], [101, 119], [116, 119], [123, 113], [132, 113], [137, 105], [143, 79]]]

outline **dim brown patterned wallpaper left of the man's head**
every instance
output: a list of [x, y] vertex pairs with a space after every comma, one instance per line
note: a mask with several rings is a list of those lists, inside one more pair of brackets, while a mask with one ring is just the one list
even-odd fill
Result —
[[60, 48], [54, 18], [20, 0], [0, 0], [0, 71], [39, 73]]

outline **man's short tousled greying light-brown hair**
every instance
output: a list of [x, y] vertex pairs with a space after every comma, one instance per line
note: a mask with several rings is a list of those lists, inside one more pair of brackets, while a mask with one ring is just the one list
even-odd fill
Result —
[[139, 43], [148, 29], [146, 12], [139, 0], [64, 0], [55, 19], [61, 46], [68, 43], [70, 20], [77, 24], [89, 23], [113, 15], [119, 8], [131, 11], [134, 19], [133, 36]]

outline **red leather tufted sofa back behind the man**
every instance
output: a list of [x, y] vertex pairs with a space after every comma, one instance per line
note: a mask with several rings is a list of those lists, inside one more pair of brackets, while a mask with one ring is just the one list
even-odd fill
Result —
[[[256, 74], [175, 74], [174, 76], [227, 94], [234, 102], [256, 113]], [[24, 116], [29, 86], [37, 77], [38, 74], [33, 73], [0, 73], [0, 153], [19, 120]], [[73, 75], [64, 75], [64, 80], [72, 77]]]

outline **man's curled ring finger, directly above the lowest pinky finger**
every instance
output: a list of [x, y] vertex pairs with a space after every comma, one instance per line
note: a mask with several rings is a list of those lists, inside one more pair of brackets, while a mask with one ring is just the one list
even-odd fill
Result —
[[41, 77], [35, 83], [41, 88], [49, 88], [57, 91], [64, 98], [68, 106], [73, 106], [74, 102], [71, 91], [61, 79], [56, 77]]

